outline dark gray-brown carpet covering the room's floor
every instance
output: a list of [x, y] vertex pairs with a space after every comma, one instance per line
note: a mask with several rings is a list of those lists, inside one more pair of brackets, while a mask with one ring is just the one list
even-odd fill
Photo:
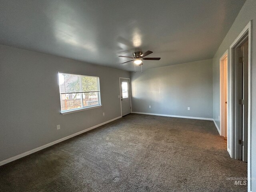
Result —
[[129, 114], [0, 167], [0, 191], [246, 192], [212, 121]]

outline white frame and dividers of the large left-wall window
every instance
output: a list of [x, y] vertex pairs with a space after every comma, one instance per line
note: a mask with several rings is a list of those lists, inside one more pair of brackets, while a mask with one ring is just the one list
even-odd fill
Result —
[[[97, 105], [91, 105], [91, 106], [84, 106], [84, 102], [83, 102], [83, 93], [88, 93], [88, 92], [80, 92], [81, 94], [81, 104], [82, 107], [81, 108], [76, 108], [76, 109], [70, 109], [70, 110], [61, 110], [61, 100], [60, 100], [60, 113], [61, 114], [69, 114], [69, 113], [74, 113], [74, 112], [78, 112], [78, 111], [84, 111], [84, 110], [89, 110], [89, 109], [94, 109], [94, 108], [99, 108], [102, 106], [101, 104], [101, 99], [100, 99], [100, 78], [97, 76], [89, 76], [89, 75], [84, 75], [84, 74], [76, 74], [76, 73], [68, 73], [68, 72], [58, 72], [58, 84], [59, 84], [59, 95], [63, 94], [60, 92], [60, 82], [59, 82], [59, 74], [72, 74], [72, 75], [79, 75], [79, 76], [86, 76], [86, 77], [96, 77], [98, 78], [98, 91], [92, 91], [92, 92], [97, 92], [98, 93], [98, 102], [99, 104]], [[76, 92], [74, 92], [76, 93]], [[91, 93], [91, 92], [89, 92]]]

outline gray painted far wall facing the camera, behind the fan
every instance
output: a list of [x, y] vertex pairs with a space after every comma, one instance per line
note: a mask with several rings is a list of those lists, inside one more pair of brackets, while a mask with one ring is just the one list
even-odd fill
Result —
[[131, 83], [133, 112], [212, 118], [212, 59], [131, 72]]

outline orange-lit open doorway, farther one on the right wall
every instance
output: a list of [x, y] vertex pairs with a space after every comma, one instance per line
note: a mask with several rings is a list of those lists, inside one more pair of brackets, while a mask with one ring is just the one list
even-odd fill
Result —
[[220, 135], [228, 134], [228, 51], [220, 58]]

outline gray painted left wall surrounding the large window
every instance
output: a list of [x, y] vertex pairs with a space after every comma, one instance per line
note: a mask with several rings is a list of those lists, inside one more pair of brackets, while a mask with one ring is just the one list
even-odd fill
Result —
[[[60, 114], [58, 71], [100, 77], [102, 107]], [[130, 74], [0, 45], [0, 161], [120, 116], [119, 77]]]

